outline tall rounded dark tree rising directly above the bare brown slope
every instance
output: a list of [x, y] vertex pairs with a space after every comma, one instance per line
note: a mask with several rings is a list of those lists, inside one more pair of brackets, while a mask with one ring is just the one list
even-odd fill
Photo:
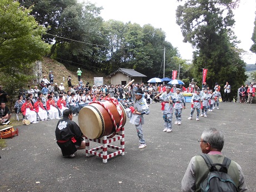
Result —
[[103, 20], [99, 17], [100, 11], [101, 8], [94, 4], [78, 3], [62, 12], [59, 37], [65, 38], [56, 38], [53, 45], [53, 56], [59, 58], [57, 60], [70, 60], [91, 70], [101, 69], [99, 64], [105, 59], [102, 51], [106, 47], [97, 46], [105, 43], [101, 34]]

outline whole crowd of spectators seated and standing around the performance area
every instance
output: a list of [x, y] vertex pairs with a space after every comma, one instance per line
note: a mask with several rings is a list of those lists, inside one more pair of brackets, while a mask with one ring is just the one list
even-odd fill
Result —
[[[47, 75], [44, 75], [41, 83], [38, 86], [36, 85], [32, 88], [31, 85], [28, 85], [27, 89], [19, 89], [19, 95], [14, 105], [15, 113], [22, 113], [23, 118], [28, 119], [31, 123], [36, 123], [39, 120], [58, 119], [62, 117], [62, 112], [65, 109], [71, 109], [72, 113], [77, 115], [79, 110], [88, 105], [90, 102], [95, 100], [106, 100], [107, 98], [113, 97], [118, 99], [118, 101], [123, 104], [124, 108], [129, 108], [134, 104], [135, 91], [138, 89], [142, 89], [143, 97], [148, 104], [152, 104], [153, 101], [162, 102], [162, 100], [159, 98], [159, 93], [164, 93], [166, 91], [165, 84], [157, 85], [151, 83], [133, 83], [128, 87], [124, 87], [124, 85], [121, 84], [91, 86], [89, 85], [89, 82], [86, 84], [83, 83], [81, 79], [82, 72], [80, 72], [81, 71], [78, 71], [79, 83], [76, 85], [72, 85], [71, 76], [68, 76], [67, 89], [64, 87], [63, 83], [60, 83], [59, 85], [54, 83], [54, 75], [52, 71], [49, 72], [49, 78], [47, 78]], [[197, 85], [192, 87], [192, 84], [189, 84], [189, 87], [185, 88], [182, 84], [174, 84], [172, 85], [170, 92], [176, 93], [177, 89], [180, 89], [181, 93], [197, 94], [199, 87]], [[213, 100], [212, 104], [209, 104], [209, 110], [214, 109], [215, 104], [217, 104], [217, 108], [219, 108], [219, 99], [221, 98], [221, 94], [219, 93], [220, 86], [218, 83], [216, 83], [215, 87], [210, 90], [207, 83], [205, 82], [202, 86], [202, 89], [206, 90], [205, 93], [214, 95], [209, 98], [209, 100]], [[216, 93], [217, 89], [218, 93]], [[203, 93], [204, 92], [202, 92], [202, 94]], [[227, 82], [224, 86], [223, 102], [229, 101], [229, 93], [230, 85]], [[11, 113], [5, 105], [7, 102], [6, 96], [7, 93], [4, 92], [0, 86], [1, 106], [2, 103], [4, 105], [1, 107], [1, 124], [11, 124], [11, 122], [9, 122]], [[253, 84], [250, 85], [250, 87], [248, 87], [248, 85], [243, 87], [242, 85], [242, 87], [239, 88], [239, 96], [240, 103], [252, 103], [252, 99], [255, 97], [255, 88], [253, 88]]]

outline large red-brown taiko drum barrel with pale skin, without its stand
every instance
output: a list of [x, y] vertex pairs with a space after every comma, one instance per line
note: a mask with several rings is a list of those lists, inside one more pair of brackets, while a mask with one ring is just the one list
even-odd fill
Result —
[[[86, 107], [83, 107], [78, 115], [79, 127], [82, 133], [89, 139], [98, 139], [116, 132], [116, 126], [113, 120], [117, 128], [124, 127], [124, 124], [126, 124], [126, 112], [121, 103], [116, 106], [110, 100], [90, 103]], [[120, 126], [121, 121], [122, 125]]]

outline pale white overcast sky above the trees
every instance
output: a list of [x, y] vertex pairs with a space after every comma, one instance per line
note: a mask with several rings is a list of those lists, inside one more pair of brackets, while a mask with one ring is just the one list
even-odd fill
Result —
[[[80, 0], [83, 1], [83, 0]], [[178, 3], [175, 0], [90, 0], [97, 7], [103, 7], [101, 17], [104, 21], [114, 19], [124, 23], [138, 23], [140, 26], [151, 24], [154, 28], [162, 28], [166, 34], [166, 41], [177, 47], [183, 59], [192, 59], [193, 49], [189, 43], [183, 43], [182, 33], [175, 21], [175, 9]], [[256, 62], [256, 54], [250, 52], [254, 19], [256, 11], [255, 0], [241, 0], [240, 6], [234, 11], [234, 32], [241, 43], [239, 48], [248, 53], [243, 59], [247, 64]]]

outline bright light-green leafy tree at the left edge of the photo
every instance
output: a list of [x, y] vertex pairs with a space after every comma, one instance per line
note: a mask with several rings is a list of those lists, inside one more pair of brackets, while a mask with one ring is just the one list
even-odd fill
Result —
[[46, 28], [39, 26], [30, 13], [31, 9], [16, 1], [0, 2], [0, 76], [11, 99], [18, 88], [34, 78], [34, 62], [49, 50], [42, 41]]

